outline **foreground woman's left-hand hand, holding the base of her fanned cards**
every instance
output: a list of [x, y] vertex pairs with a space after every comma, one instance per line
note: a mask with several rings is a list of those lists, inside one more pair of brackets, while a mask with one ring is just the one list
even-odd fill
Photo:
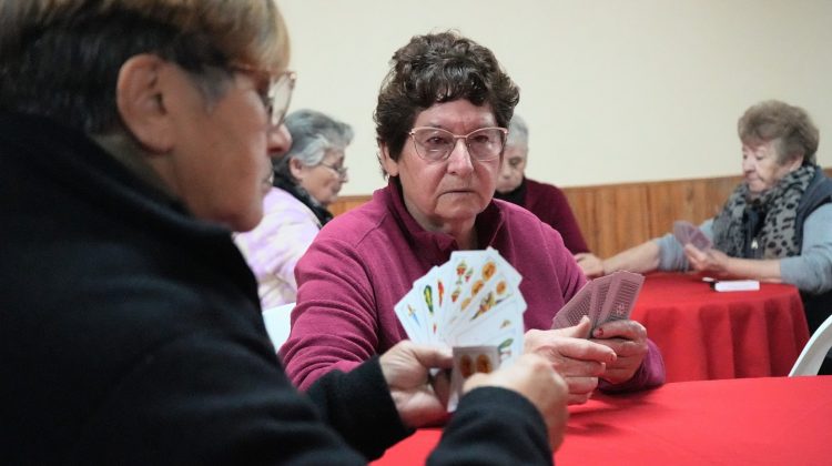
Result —
[[398, 415], [406, 426], [422, 427], [447, 417], [448, 377], [440, 372], [433, 383], [428, 383], [428, 369], [450, 368], [454, 365], [450, 348], [417, 345], [405, 340], [384, 353], [379, 362]]

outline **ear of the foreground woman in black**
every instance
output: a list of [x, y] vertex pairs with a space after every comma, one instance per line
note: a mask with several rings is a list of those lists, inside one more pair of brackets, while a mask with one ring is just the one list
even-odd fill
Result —
[[173, 125], [161, 79], [165, 64], [149, 53], [131, 57], [121, 65], [115, 87], [115, 104], [124, 125], [151, 153], [168, 153], [173, 148]]

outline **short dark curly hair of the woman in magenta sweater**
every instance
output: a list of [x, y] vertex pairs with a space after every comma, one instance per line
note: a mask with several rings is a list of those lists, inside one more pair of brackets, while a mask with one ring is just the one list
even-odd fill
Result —
[[507, 128], [520, 91], [494, 53], [454, 31], [416, 36], [393, 54], [373, 115], [376, 138], [393, 160], [402, 154], [416, 115], [435, 103], [459, 99], [488, 104]]

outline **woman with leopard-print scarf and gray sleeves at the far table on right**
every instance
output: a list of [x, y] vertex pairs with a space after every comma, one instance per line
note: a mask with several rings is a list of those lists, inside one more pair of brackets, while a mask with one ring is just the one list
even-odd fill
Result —
[[818, 128], [803, 109], [765, 101], [745, 111], [738, 133], [744, 180], [722, 212], [692, 232], [712, 247], [682, 246], [668, 234], [605, 260], [597, 273], [693, 269], [790, 283], [813, 332], [832, 310], [832, 181], [815, 161]]

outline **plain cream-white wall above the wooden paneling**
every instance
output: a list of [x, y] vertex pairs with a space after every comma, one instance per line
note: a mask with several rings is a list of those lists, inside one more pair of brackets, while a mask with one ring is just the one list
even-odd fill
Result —
[[293, 109], [351, 123], [351, 182], [382, 186], [373, 110], [393, 52], [456, 29], [521, 88], [527, 173], [562, 186], [739, 174], [752, 103], [803, 107], [832, 166], [830, 0], [277, 0], [298, 72]]

